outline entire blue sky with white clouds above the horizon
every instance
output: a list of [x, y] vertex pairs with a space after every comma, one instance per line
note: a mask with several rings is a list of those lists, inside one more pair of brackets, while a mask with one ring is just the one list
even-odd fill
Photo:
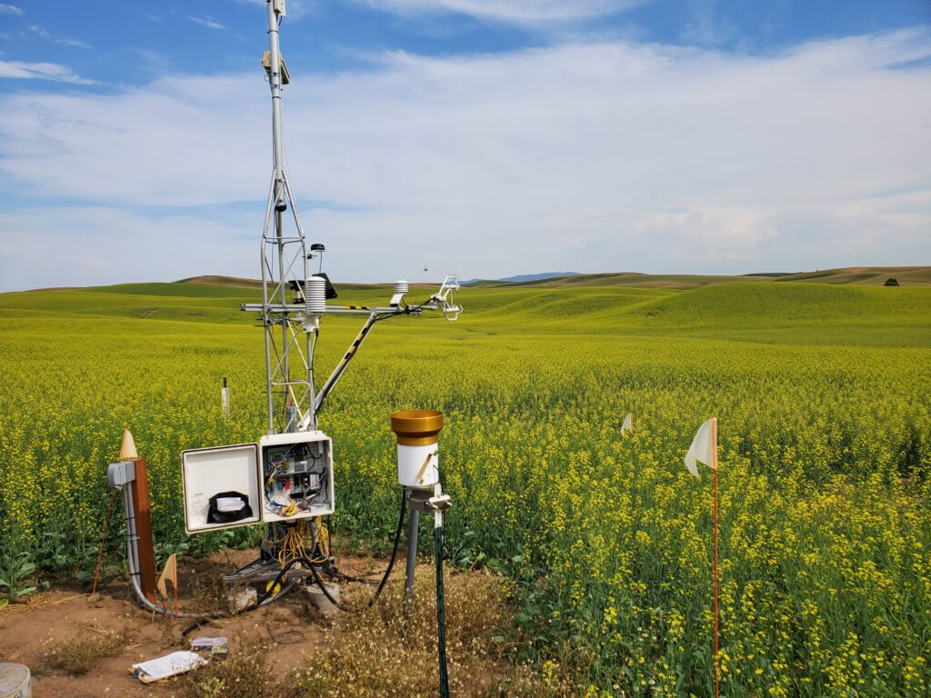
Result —
[[[263, 0], [0, 2], [0, 291], [258, 275]], [[931, 4], [290, 0], [336, 278], [931, 263]]]

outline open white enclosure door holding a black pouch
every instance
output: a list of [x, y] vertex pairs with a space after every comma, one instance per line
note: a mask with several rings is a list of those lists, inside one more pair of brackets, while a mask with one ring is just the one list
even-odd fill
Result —
[[200, 533], [259, 523], [258, 463], [258, 444], [185, 450], [184, 530]]

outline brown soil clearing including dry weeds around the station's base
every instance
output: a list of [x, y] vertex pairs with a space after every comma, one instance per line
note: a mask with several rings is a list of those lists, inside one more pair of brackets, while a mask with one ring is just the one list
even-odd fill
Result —
[[[180, 610], [216, 603], [211, 594], [221, 596], [217, 582], [223, 573], [250, 562], [255, 555], [253, 550], [223, 551], [201, 559], [184, 559], [179, 566]], [[385, 560], [372, 557], [339, 558], [344, 574], [372, 582], [380, 579], [385, 564]], [[431, 627], [436, 619], [431, 598], [434, 570], [432, 565], [419, 566], [415, 611], [406, 626], [398, 620], [403, 569], [400, 560], [383, 597], [371, 608], [368, 600], [375, 584], [345, 582], [341, 595], [352, 611], [323, 618], [304, 592], [298, 591], [257, 611], [211, 621], [187, 637], [182, 631], [190, 626], [190, 619], [142, 610], [130, 598], [124, 581], [108, 584], [95, 597], [77, 586], [63, 586], [0, 610], [0, 662], [28, 666], [36, 698], [374, 695], [380, 692], [377, 687], [400, 678], [403, 663], [386, 664], [383, 652], [392, 643], [405, 646], [403, 642], [408, 640], [399, 633], [410, 631], [417, 639], [413, 647], [406, 646], [417, 654], [415, 663], [422, 668], [420, 676], [405, 677], [414, 681], [407, 687], [408, 694], [431, 694], [437, 680], [435, 625]], [[451, 678], [468, 672], [467, 681], [459, 676], [456, 683], [469, 686], [466, 692], [470, 695], [492, 691], [506, 667], [494, 651], [500, 637], [495, 641], [493, 636], [499, 632], [504, 608], [499, 602], [499, 587], [503, 588], [500, 579], [481, 573], [453, 573], [450, 577]], [[485, 609], [473, 612], [479, 604]], [[229, 638], [229, 658], [148, 685], [129, 675], [131, 664], [187, 650], [192, 638], [202, 636]], [[373, 644], [371, 638], [379, 641]], [[371, 656], [365, 656], [370, 652]], [[324, 665], [331, 670], [321, 683], [315, 674]], [[378, 677], [371, 686], [374, 691], [359, 693], [340, 685], [366, 675]]]

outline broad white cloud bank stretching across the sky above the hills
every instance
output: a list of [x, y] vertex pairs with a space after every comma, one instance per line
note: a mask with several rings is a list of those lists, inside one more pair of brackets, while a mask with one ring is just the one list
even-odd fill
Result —
[[[905, 32], [765, 57], [623, 42], [389, 54], [286, 88], [291, 173], [328, 202], [305, 204], [304, 225], [336, 278], [928, 262], [931, 69], [888, 68], [926, 46]], [[0, 97], [0, 184], [141, 207], [126, 235], [157, 230], [146, 207], [204, 221], [251, 201], [257, 240], [269, 111], [254, 73]], [[254, 252], [229, 271], [257, 274]]]

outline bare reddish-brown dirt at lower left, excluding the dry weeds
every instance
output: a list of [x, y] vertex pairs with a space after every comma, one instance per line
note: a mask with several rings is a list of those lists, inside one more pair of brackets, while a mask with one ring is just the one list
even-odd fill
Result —
[[[179, 565], [179, 607], [203, 603], [197, 598], [206, 581], [215, 581], [223, 573], [236, 570], [257, 556], [255, 550], [223, 551], [203, 559], [184, 559]], [[340, 557], [338, 567], [350, 576], [365, 576], [377, 581], [385, 569], [384, 560], [369, 557]], [[393, 576], [403, 574], [403, 561]], [[367, 584], [344, 583], [348, 587]], [[198, 588], [201, 591], [196, 591]], [[371, 590], [374, 586], [371, 586]], [[357, 589], [371, 593], [368, 589]], [[173, 601], [166, 601], [172, 606]], [[25, 664], [33, 674], [35, 698], [101, 698], [101, 696], [171, 696], [178, 690], [178, 678], [142, 684], [132, 678], [131, 664], [171, 651], [190, 649], [197, 637], [229, 638], [230, 654], [257, 638], [276, 646], [274, 668], [282, 673], [306, 666], [305, 656], [317, 649], [323, 629], [331, 623], [322, 618], [306, 600], [304, 592], [292, 592], [268, 607], [233, 618], [212, 621], [187, 637], [182, 630], [190, 619], [162, 616], [143, 611], [129, 597], [128, 584], [114, 581], [99, 589], [95, 597], [74, 586], [58, 587], [29, 597], [24, 603], [0, 609], [0, 662]], [[126, 641], [112, 656], [102, 657], [84, 676], [69, 676], [53, 667], [50, 655], [61, 643], [80, 643], [107, 631], [125, 632]], [[221, 660], [214, 660], [221, 661]]]

